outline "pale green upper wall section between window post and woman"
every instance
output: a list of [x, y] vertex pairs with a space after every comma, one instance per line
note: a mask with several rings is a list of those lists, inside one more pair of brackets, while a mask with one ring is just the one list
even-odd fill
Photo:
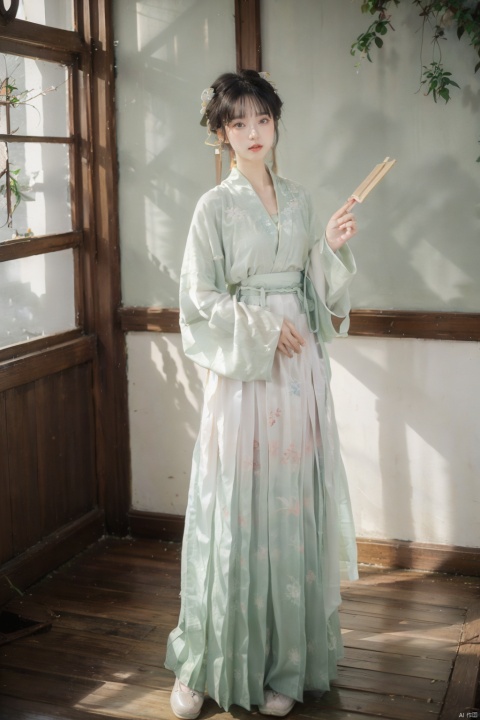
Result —
[[233, 12], [233, 2], [118, 3], [124, 304], [178, 306], [190, 220], [215, 182], [200, 94], [225, 69], [222, 58], [235, 63]]

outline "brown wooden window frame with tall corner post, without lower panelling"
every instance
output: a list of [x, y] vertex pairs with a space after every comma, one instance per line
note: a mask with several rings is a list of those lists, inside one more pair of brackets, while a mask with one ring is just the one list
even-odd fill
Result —
[[[17, 382], [18, 368], [21, 382], [28, 382], [64, 362], [93, 363], [99, 506], [106, 531], [122, 535], [131, 490], [125, 336], [116, 315], [121, 282], [112, 6], [113, 0], [74, 0], [72, 31], [16, 19], [0, 24], [2, 52], [69, 67], [69, 136], [37, 141], [69, 143], [72, 198], [71, 232], [1, 243], [0, 261], [71, 248], [77, 325], [1, 348], [0, 377], [8, 387]], [[32, 141], [16, 141], [21, 139]]]

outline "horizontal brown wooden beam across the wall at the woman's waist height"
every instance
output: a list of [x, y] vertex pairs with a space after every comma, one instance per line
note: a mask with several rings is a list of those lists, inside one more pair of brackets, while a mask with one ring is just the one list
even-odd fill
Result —
[[[177, 308], [122, 307], [124, 332], [180, 332]], [[480, 341], [480, 313], [352, 310], [351, 336]]]

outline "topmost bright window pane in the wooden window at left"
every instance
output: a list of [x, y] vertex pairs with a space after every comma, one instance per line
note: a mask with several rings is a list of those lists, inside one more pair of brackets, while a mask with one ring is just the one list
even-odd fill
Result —
[[68, 70], [64, 65], [0, 55], [0, 77], [8, 80], [0, 98], [0, 133], [69, 134]]

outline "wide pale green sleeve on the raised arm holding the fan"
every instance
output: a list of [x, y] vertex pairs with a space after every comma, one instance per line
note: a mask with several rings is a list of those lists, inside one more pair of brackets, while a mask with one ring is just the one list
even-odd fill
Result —
[[[312, 237], [316, 238], [318, 233], [310, 199], [308, 205], [310, 233]], [[314, 304], [318, 332], [327, 342], [335, 337], [347, 335], [351, 310], [348, 289], [356, 271], [355, 259], [347, 244], [337, 252], [333, 252], [324, 234], [320, 239], [315, 239], [310, 250], [306, 275], [309, 280], [310, 292], [315, 293]], [[338, 319], [335, 324], [334, 318]]]

